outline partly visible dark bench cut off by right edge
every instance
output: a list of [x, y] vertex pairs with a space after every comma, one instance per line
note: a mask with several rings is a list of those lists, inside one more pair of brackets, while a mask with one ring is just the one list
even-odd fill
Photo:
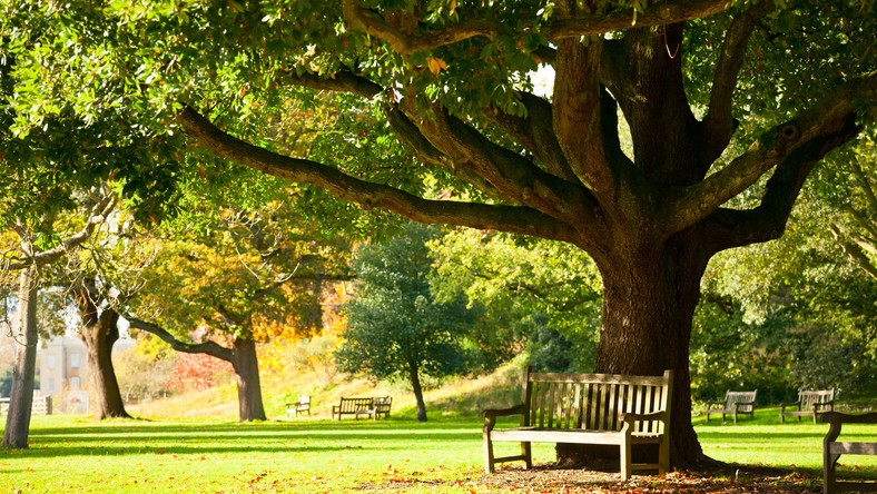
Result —
[[877, 482], [838, 482], [835, 477], [835, 467], [840, 455], [877, 455], [877, 442], [874, 443], [840, 443], [842, 424], [877, 424], [877, 413], [865, 415], [847, 415], [837, 412], [826, 412], [821, 421], [831, 424], [822, 439], [822, 493], [832, 494], [838, 491], [869, 491], [877, 492]]

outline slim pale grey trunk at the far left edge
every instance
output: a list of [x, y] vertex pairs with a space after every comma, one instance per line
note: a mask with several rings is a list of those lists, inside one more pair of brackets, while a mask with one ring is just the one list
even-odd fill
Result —
[[9, 396], [9, 414], [3, 431], [3, 446], [28, 447], [30, 412], [33, 404], [33, 375], [37, 368], [37, 267], [21, 270], [18, 290], [18, 328], [16, 339], [16, 367], [12, 392]]

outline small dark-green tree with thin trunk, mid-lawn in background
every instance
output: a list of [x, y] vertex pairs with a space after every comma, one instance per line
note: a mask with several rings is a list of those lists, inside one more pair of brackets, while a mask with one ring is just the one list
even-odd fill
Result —
[[433, 259], [425, 243], [437, 231], [412, 224], [390, 243], [357, 250], [357, 296], [345, 305], [349, 329], [335, 353], [342, 372], [408, 379], [420, 422], [426, 422], [421, 375], [462, 372], [465, 353], [460, 343], [473, 323], [463, 297], [437, 303], [430, 290]]

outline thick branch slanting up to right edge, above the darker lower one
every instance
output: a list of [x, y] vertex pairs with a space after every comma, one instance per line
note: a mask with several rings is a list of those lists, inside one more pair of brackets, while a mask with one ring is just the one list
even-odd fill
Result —
[[854, 102], [858, 98], [877, 99], [877, 72], [848, 82], [794, 120], [773, 127], [723, 169], [676, 195], [668, 194], [667, 208], [672, 214], [668, 215], [671, 219], [666, 225], [667, 233], [694, 225], [779, 164], [809, 162], [809, 155], [820, 152], [811, 150], [814, 146], [821, 149], [821, 142], [832, 141], [837, 135], [851, 139], [847, 134], [850, 120], [855, 119]]

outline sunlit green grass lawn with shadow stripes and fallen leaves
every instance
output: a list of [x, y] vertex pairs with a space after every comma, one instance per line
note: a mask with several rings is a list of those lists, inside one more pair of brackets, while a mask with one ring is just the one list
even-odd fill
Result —
[[[821, 485], [821, 439], [826, 425], [807, 422], [780, 425], [769, 411], [757, 412], [755, 421], [743, 419], [736, 425], [712, 421], [704, 425], [702, 418], [697, 421], [696, 428], [708, 455], [726, 462], [796, 470], [812, 476], [809, 487]], [[842, 437], [877, 441], [877, 427], [845, 427]], [[515, 449], [512, 444], [499, 446], [508, 448], [508, 453]], [[398, 418], [377, 423], [304, 418], [238, 424], [96, 423], [77, 416], [35, 416], [29, 449], [0, 449], [0, 494], [16, 490], [22, 493], [523, 492], [476, 482], [484, 475], [481, 454], [481, 422], [475, 417], [426, 424]], [[497, 454], [505, 453], [501, 449]], [[553, 445], [535, 445], [534, 456], [536, 463], [551, 462]], [[877, 457], [844, 457], [841, 464], [841, 476], [877, 480]]]

